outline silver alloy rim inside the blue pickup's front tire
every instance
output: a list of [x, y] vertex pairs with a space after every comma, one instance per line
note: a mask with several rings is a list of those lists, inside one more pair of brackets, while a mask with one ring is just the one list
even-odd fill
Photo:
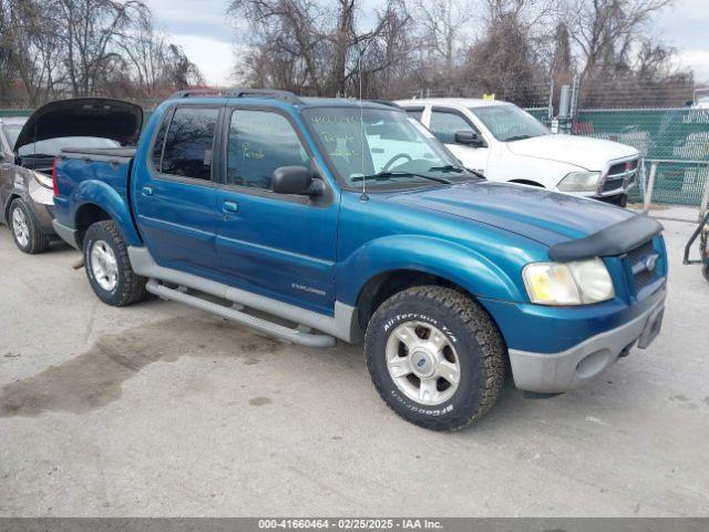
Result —
[[450, 340], [423, 321], [407, 321], [391, 332], [387, 368], [402, 393], [427, 406], [448, 401], [461, 380], [460, 359]]

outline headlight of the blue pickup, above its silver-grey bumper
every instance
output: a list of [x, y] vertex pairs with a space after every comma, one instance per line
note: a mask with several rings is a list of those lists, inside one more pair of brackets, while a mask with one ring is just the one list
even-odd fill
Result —
[[603, 260], [532, 263], [522, 270], [530, 300], [540, 305], [588, 305], [615, 296]]

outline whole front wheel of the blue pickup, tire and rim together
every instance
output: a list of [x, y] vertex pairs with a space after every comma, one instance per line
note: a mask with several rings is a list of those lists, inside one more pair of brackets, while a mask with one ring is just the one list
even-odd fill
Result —
[[492, 318], [472, 298], [441, 286], [409, 288], [384, 301], [368, 324], [364, 350], [384, 402], [431, 430], [482, 418], [505, 378], [506, 347]]

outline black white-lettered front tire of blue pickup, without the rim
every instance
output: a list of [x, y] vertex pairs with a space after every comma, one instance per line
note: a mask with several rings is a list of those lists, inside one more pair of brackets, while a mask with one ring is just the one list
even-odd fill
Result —
[[[438, 328], [458, 355], [458, 389], [440, 405], [411, 399], [387, 367], [390, 335], [412, 320]], [[482, 418], [497, 400], [505, 378], [506, 347], [492, 318], [466, 295], [441, 286], [409, 288], [384, 301], [367, 327], [364, 350], [372, 382], [384, 402], [407, 421], [431, 430], [456, 430]]]

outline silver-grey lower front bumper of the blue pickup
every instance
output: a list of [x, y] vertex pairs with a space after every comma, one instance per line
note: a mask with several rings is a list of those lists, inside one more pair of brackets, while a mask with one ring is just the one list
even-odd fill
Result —
[[659, 332], [665, 297], [630, 321], [593, 336], [561, 352], [510, 349], [515, 386], [521, 390], [558, 393], [600, 376], [636, 342], [645, 349]]

